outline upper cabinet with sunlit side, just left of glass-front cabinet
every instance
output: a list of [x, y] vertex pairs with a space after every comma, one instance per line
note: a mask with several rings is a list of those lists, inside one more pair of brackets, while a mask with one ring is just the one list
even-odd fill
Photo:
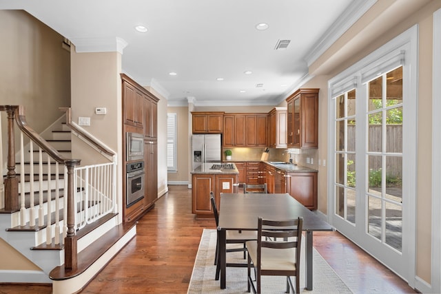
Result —
[[268, 145], [287, 148], [287, 107], [274, 107], [268, 114]]

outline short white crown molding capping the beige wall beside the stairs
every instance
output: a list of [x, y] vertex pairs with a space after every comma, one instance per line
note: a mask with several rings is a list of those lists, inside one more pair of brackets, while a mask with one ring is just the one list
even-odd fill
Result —
[[69, 39], [74, 45], [76, 52], [119, 52], [123, 54], [127, 42], [119, 37], [112, 38], [74, 38]]

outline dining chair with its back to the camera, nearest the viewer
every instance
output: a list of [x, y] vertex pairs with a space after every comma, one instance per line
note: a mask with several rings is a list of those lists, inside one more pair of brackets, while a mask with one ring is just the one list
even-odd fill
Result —
[[[287, 277], [287, 291], [300, 293], [300, 244], [302, 242], [302, 218], [294, 220], [265, 220], [258, 218], [257, 240], [246, 242], [248, 251], [248, 288], [260, 293], [262, 275], [283, 275]], [[265, 239], [265, 238], [268, 239]], [[278, 241], [272, 241], [277, 238]], [[251, 277], [252, 266], [256, 270], [256, 286]], [[296, 277], [294, 291], [291, 276]]]

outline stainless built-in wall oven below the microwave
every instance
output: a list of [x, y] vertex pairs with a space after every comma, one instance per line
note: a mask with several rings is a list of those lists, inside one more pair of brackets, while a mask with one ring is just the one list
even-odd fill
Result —
[[144, 198], [144, 162], [128, 162], [126, 171], [125, 206], [130, 207]]

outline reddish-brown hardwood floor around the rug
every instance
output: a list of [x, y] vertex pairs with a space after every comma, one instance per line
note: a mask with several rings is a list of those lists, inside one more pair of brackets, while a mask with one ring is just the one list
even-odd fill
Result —
[[[214, 220], [194, 219], [191, 195], [186, 186], [170, 186], [139, 220], [136, 237], [81, 293], [187, 293], [202, 231], [215, 228]], [[338, 232], [314, 233], [314, 246], [354, 293], [416, 293]], [[50, 292], [0, 286], [0, 293]]]

